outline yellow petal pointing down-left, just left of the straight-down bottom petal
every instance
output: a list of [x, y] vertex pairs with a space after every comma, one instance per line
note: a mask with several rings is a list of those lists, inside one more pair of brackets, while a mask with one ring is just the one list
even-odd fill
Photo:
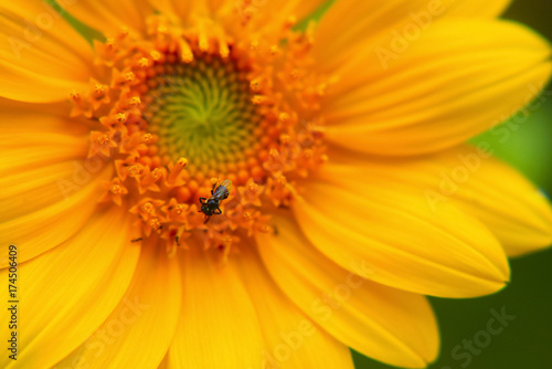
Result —
[[125, 296], [86, 342], [59, 363], [60, 369], [156, 368], [163, 359], [180, 312], [179, 264], [162, 245], [130, 247], [142, 251]]

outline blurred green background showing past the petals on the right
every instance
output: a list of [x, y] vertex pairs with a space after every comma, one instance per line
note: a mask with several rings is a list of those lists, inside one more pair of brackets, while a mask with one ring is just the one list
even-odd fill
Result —
[[[485, 0], [481, 0], [485, 1]], [[552, 1], [513, 1], [503, 18], [524, 23], [552, 40]], [[552, 84], [546, 91], [552, 93]], [[522, 171], [550, 197], [552, 194], [552, 97], [520, 124], [506, 143], [495, 135], [475, 140], [492, 144], [497, 156]], [[552, 369], [552, 249], [512, 260], [510, 285], [498, 294], [473, 299], [432, 298], [439, 321], [442, 348], [431, 369]], [[516, 316], [501, 334], [486, 340], [490, 310], [505, 307]], [[486, 346], [464, 347], [479, 339]], [[466, 340], [466, 341], [465, 341]], [[468, 344], [469, 345], [469, 344]], [[459, 347], [459, 348], [458, 348]], [[390, 369], [353, 352], [358, 369]]]

